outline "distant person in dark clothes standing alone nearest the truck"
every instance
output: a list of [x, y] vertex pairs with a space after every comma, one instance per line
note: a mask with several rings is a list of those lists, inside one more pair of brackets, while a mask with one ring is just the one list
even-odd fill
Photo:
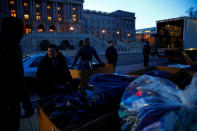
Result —
[[144, 66], [148, 66], [149, 64], [149, 55], [151, 52], [151, 47], [149, 45], [149, 42], [146, 41], [146, 44], [143, 47], [143, 55], [144, 55]]

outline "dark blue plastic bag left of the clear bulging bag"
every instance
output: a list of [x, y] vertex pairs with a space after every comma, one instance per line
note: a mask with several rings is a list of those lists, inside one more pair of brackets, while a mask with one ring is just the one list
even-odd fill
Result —
[[[118, 109], [122, 93], [135, 78], [121, 74], [96, 74], [88, 83], [89, 89], [86, 90], [86, 97], [92, 104], [102, 104], [105, 110]], [[103, 106], [100, 107], [103, 108]], [[95, 110], [98, 109], [102, 110], [95, 107]]]

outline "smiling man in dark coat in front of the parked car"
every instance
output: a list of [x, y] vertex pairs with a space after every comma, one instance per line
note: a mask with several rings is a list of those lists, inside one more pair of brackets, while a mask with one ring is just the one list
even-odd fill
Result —
[[57, 46], [50, 44], [48, 53], [41, 60], [36, 73], [37, 90], [41, 97], [64, 91], [72, 82], [64, 55]]

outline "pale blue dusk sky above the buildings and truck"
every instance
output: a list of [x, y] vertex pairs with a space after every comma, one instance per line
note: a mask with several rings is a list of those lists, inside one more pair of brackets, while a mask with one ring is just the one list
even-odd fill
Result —
[[136, 29], [155, 27], [157, 20], [188, 16], [190, 7], [197, 10], [197, 0], [84, 0], [84, 9], [135, 13]]

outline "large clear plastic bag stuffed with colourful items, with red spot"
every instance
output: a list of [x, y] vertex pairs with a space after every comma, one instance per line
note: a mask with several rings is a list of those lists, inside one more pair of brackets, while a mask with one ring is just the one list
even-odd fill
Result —
[[180, 90], [167, 79], [143, 75], [124, 91], [119, 117], [123, 131], [196, 131], [197, 74]]

